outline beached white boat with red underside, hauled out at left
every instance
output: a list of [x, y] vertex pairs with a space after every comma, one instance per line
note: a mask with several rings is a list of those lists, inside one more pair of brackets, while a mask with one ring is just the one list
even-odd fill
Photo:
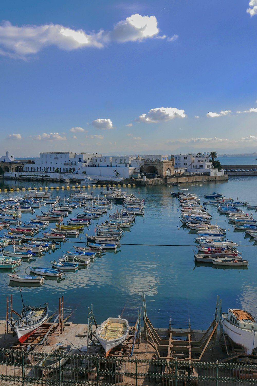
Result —
[[30, 335], [37, 330], [48, 317], [48, 303], [45, 307], [24, 306], [18, 320], [12, 329], [17, 333], [18, 340], [23, 343]]

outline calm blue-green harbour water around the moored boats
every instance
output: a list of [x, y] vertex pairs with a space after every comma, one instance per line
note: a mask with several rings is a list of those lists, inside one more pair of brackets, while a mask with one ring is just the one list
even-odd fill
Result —
[[[5, 186], [8, 189], [14, 186], [33, 188], [24, 181], [6, 181]], [[257, 205], [256, 177], [230, 177], [228, 182], [180, 187], [196, 193], [201, 201], [204, 194], [217, 191], [226, 197], [238, 197]], [[0, 188], [3, 188], [3, 183]], [[88, 189], [91, 190], [92, 188]], [[100, 189], [93, 190], [95, 195], [99, 194]], [[123, 310], [123, 317], [133, 320], [141, 306], [141, 294], [145, 292], [148, 317], [156, 327], [168, 327], [170, 317], [174, 322], [181, 323], [185, 323], [190, 317], [193, 328], [206, 328], [213, 320], [215, 301], [217, 295], [220, 295], [223, 310], [239, 307], [257, 315], [257, 251], [249, 237], [245, 237], [243, 232], [233, 231], [226, 216], [218, 214], [217, 207], [208, 206], [213, 216], [212, 223], [217, 222], [222, 227], [229, 228], [227, 238], [240, 242], [239, 250], [242, 257], [249, 261], [249, 268], [217, 269], [212, 266], [196, 266], [193, 259], [195, 234], [181, 227], [178, 200], [170, 194], [171, 191], [178, 191], [178, 186], [128, 190], [141, 199], [144, 198], [146, 207], [144, 217], [136, 217], [131, 230], [124, 233], [121, 243], [125, 245], [121, 245], [116, 253], [107, 252], [97, 258], [88, 269], [67, 273], [61, 281], [45, 279], [41, 287], [23, 288], [25, 303], [38, 305], [48, 301], [50, 313], [53, 313], [58, 310], [58, 298], [64, 295], [65, 314], [72, 312], [72, 322], [87, 323], [91, 303], [98, 322], [109, 316], [120, 315]], [[69, 195], [69, 191], [56, 192], [54, 190], [53, 195]], [[2, 193], [1, 197], [15, 195], [16, 193], [8, 192]], [[23, 193], [20, 192], [19, 195], [22, 196]], [[120, 207], [121, 205], [116, 205], [113, 211], [116, 212]], [[22, 220], [35, 217], [40, 210], [37, 209], [33, 216], [29, 213], [22, 214]], [[76, 217], [78, 211], [81, 209], [74, 210], [72, 217]], [[247, 212], [246, 209], [245, 211]], [[106, 216], [102, 219], [105, 220]], [[50, 261], [62, 256], [63, 251], [71, 250], [74, 242], [81, 243], [76, 245], [84, 245], [85, 233], [93, 234], [95, 224], [96, 220], [89, 229], [85, 228], [84, 234], [80, 234], [79, 238], [70, 237], [61, 244], [60, 249], [37, 257], [33, 264], [49, 267]], [[165, 246], [167, 244], [175, 246]], [[23, 262], [17, 272], [24, 274], [27, 266]], [[14, 309], [19, 312], [19, 287], [9, 285], [6, 272], [0, 272], [0, 291], [0, 319], [5, 318], [5, 299], [11, 293]]]

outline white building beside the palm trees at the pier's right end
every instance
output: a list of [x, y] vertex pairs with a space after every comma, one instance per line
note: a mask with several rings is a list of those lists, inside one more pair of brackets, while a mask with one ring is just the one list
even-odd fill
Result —
[[174, 168], [184, 168], [185, 172], [188, 173], [209, 173], [211, 176], [222, 175], [223, 171], [213, 168], [212, 162], [208, 155], [197, 155], [197, 154], [176, 154], [174, 156], [175, 164]]

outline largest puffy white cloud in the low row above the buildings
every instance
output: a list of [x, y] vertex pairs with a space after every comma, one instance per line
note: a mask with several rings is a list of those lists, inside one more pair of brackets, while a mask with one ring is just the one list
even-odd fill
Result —
[[184, 110], [178, 110], [175, 107], [158, 107], [149, 110], [148, 114], [139, 115], [135, 122], [157, 123], [166, 122], [174, 118], [185, 118]]

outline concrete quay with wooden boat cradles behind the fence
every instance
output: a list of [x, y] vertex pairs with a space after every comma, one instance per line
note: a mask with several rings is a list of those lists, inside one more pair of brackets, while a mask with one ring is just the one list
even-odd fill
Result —
[[[170, 321], [168, 328], [155, 328], [147, 317], [143, 294], [144, 327], [138, 312], [138, 320], [130, 327], [122, 347], [105, 355], [95, 339], [97, 325], [92, 306], [87, 325], [71, 323], [63, 319], [63, 298], [59, 299], [59, 315], [53, 323], [44, 324], [45, 332], [34, 332], [37, 338], [32, 338], [30, 344], [17, 346], [17, 338], [7, 334], [6, 320], [0, 321], [0, 384], [196, 386], [208, 382], [215, 386], [219, 382], [246, 384], [245, 380], [253, 384], [257, 379], [257, 355], [246, 356], [240, 349], [235, 352], [235, 345], [218, 331], [221, 304], [218, 296], [214, 319], [207, 330], [192, 330], [190, 320], [185, 325]], [[14, 312], [8, 299], [7, 310], [7, 315]], [[229, 344], [233, 352], [228, 352]], [[237, 362], [230, 362], [233, 360]]]

